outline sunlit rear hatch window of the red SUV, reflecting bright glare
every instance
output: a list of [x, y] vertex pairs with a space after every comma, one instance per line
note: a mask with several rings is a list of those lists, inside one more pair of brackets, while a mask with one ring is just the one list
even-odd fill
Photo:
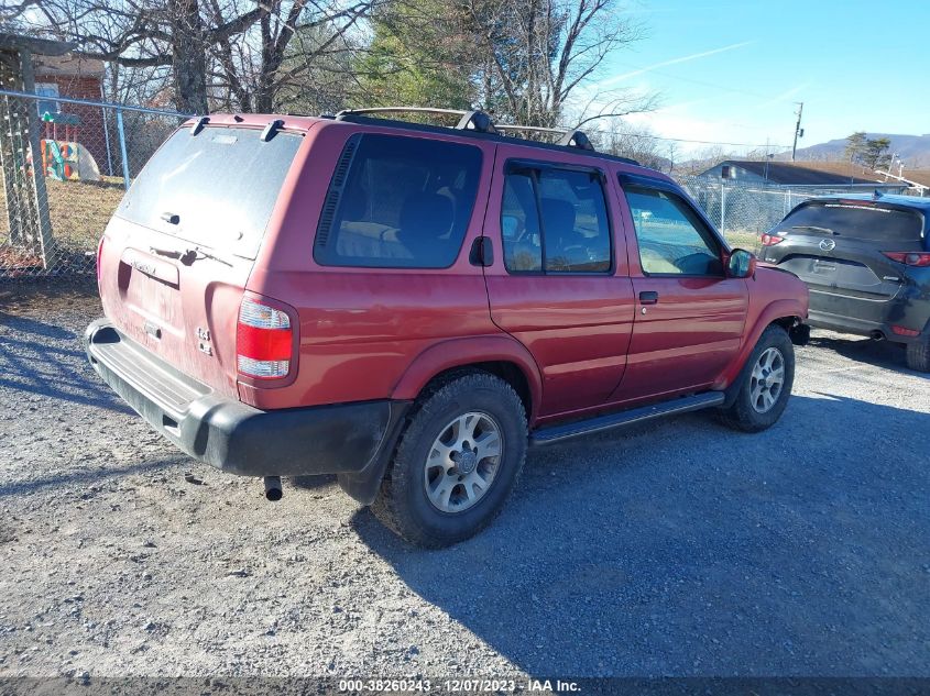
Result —
[[[152, 156], [117, 214], [238, 256], [254, 258], [302, 136], [207, 126], [177, 131]], [[167, 221], [176, 216], [177, 223]]]

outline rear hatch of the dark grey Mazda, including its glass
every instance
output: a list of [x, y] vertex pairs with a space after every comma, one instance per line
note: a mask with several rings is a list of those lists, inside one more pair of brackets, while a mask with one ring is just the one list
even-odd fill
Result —
[[901, 265], [887, 252], [924, 251], [920, 212], [873, 200], [802, 203], [767, 235], [763, 259], [790, 270], [811, 291], [811, 309], [879, 320], [901, 290]]

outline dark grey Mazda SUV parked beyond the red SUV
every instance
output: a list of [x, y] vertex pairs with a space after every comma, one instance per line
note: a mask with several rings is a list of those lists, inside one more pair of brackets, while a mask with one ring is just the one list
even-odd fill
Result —
[[816, 198], [762, 235], [762, 256], [810, 289], [812, 327], [907, 346], [930, 372], [930, 200]]

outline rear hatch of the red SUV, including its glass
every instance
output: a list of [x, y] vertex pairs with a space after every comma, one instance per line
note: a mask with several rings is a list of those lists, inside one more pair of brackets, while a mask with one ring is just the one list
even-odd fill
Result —
[[240, 301], [302, 135], [177, 131], [133, 181], [103, 236], [107, 317], [229, 397], [237, 397]]

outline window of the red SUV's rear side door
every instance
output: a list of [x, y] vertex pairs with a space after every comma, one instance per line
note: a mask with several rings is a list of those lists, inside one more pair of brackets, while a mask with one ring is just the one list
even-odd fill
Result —
[[611, 229], [598, 172], [511, 168], [501, 231], [511, 273], [611, 269]]

